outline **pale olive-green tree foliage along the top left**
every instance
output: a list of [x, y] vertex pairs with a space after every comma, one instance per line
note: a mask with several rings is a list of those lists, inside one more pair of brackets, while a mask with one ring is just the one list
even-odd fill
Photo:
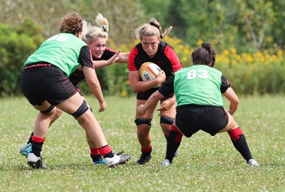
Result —
[[145, 22], [145, 11], [140, 1], [128, 0], [0, 1], [0, 10], [1, 23], [16, 26], [24, 18], [33, 19], [43, 27], [42, 34], [46, 38], [58, 33], [58, 18], [72, 11], [80, 13], [83, 19], [91, 23], [99, 12], [103, 14], [109, 21], [110, 38], [116, 43], [132, 42], [135, 39], [134, 29]]

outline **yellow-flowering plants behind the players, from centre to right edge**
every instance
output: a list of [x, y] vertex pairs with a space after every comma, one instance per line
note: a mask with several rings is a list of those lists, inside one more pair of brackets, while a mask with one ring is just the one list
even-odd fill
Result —
[[[180, 58], [180, 62], [184, 67], [192, 65], [192, 51], [201, 46], [202, 40], [197, 41], [197, 47], [190, 48], [185, 46], [179, 38], [170, 38], [166, 36], [163, 41], [169, 43]], [[133, 46], [139, 41], [134, 41], [130, 45], [121, 44], [115, 46], [113, 41], [108, 41], [108, 46], [114, 50], [122, 50], [129, 52]], [[275, 94], [285, 93], [285, 56], [284, 50], [277, 49], [271, 51], [257, 53], [240, 53], [236, 48], [228, 48], [216, 53], [215, 68], [221, 70], [224, 76], [229, 80], [235, 92], [240, 95], [252, 94]], [[133, 94], [130, 90], [128, 82], [128, 66], [127, 65], [112, 65], [113, 70], [124, 68], [120, 78], [111, 82], [111, 87], [116, 87], [119, 95], [128, 97]], [[110, 67], [105, 70], [111, 70]], [[110, 80], [110, 79], [109, 79]], [[120, 80], [120, 82], [118, 81]], [[115, 85], [114, 85], [115, 84]], [[117, 85], [117, 86], [116, 86]], [[105, 87], [103, 87], [104, 90]], [[114, 94], [114, 90], [110, 90]]]

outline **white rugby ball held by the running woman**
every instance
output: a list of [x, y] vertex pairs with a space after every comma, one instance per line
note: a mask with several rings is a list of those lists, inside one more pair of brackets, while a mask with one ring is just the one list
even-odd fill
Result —
[[[160, 66], [155, 63], [145, 62], [140, 66], [140, 78], [143, 81], [154, 80], [161, 70]], [[161, 85], [157, 85], [155, 87], [160, 87]]]

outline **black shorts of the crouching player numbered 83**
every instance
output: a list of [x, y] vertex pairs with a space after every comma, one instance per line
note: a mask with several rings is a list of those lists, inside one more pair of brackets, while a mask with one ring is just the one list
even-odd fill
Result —
[[214, 136], [228, 122], [227, 112], [223, 107], [216, 106], [182, 105], [177, 107], [175, 117], [176, 126], [185, 137], [191, 137], [200, 129]]

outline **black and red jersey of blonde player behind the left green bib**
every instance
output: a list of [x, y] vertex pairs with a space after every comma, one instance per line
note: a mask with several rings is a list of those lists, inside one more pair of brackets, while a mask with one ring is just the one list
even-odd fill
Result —
[[[117, 51], [110, 49], [108, 47], [105, 47], [104, 53], [101, 58], [94, 58], [93, 60], [108, 60], [115, 55]], [[77, 85], [81, 80], [85, 79], [85, 76], [83, 74], [82, 70], [76, 69], [71, 75], [69, 76], [69, 80], [72, 82], [73, 85]]]

